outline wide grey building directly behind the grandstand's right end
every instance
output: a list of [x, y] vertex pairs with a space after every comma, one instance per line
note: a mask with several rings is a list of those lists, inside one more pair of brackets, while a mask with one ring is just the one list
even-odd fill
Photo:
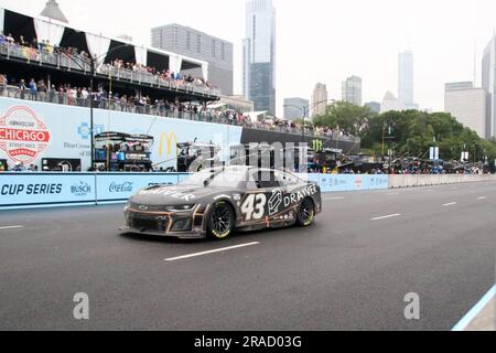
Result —
[[[233, 95], [233, 43], [180, 24], [151, 30], [152, 46], [208, 62], [208, 81], [224, 95]], [[202, 77], [201, 68], [183, 69]]]

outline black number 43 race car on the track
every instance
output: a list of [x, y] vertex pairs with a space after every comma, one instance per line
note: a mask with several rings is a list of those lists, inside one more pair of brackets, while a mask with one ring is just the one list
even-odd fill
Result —
[[235, 231], [309, 226], [322, 211], [321, 190], [282, 171], [225, 167], [179, 185], [133, 195], [120, 231], [176, 238], [224, 239]]

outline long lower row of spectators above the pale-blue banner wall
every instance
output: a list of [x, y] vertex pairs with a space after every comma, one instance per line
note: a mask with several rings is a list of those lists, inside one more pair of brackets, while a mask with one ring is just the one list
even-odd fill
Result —
[[152, 99], [149, 95], [107, 92], [101, 86], [91, 95], [88, 87], [47, 83], [44, 79], [36, 81], [34, 78], [15, 81], [0, 74], [0, 96], [7, 92], [8, 87], [14, 89], [14, 97], [21, 99], [89, 107], [90, 98], [93, 98], [93, 106], [101, 109], [202, 120], [289, 133], [304, 133], [305, 136], [349, 137], [343, 130], [314, 128], [310, 125], [303, 126], [273, 117], [261, 116], [252, 120], [248, 115], [234, 109], [211, 108], [206, 104], [182, 103], [177, 99]]

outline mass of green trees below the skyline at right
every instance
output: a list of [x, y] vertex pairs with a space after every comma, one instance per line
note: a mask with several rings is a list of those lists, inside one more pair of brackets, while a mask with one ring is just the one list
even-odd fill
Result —
[[[324, 116], [315, 119], [316, 126], [347, 130], [362, 138], [362, 148], [382, 154], [385, 147], [395, 145], [398, 157], [427, 158], [430, 147], [439, 147], [444, 160], [460, 160], [463, 151], [477, 160], [496, 159], [496, 141], [481, 139], [477, 133], [456, 121], [450, 114], [407, 110], [374, 114], [349, 103], [330, 106]], [[392, 136], [389, 136], [389, 130]]]

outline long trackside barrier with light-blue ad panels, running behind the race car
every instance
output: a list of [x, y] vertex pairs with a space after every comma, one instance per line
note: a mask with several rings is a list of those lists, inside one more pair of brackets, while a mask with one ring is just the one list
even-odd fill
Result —
[[[496, 181], [496, 175], [343, 175], [300, 174], [322, 192], [387, 190]], [[0, 173], [0, 211], [123, 203], [154, 184], [175, 185], [180, 173]]]

